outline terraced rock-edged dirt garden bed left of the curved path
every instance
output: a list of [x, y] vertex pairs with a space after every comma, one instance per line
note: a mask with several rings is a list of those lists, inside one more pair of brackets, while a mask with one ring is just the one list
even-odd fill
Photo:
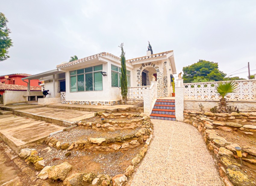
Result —
[[123, 186], [144, 157], [152, 129], [143, 113], [97, 113], [19, 156], [37, 170], [39, 185]]

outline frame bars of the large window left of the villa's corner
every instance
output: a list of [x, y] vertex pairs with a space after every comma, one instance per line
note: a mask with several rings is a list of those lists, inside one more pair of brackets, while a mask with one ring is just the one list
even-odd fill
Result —
[[[102, 69], [101, 70], [94, 70], [94, 67], [96, 67], [96, 66], [102, 66]], [[92, 67], [92, 71], [91, 72], [85, 72], [85, 69], [86, 68], [90, 68], [90, 67]], [[102, 72], [103, 71], [103, 64], [98, 64], [98, 65], [94, 65], [94, 66], [90, 66], [90, 67], [85, 67], [85, 68], [80, 68], [80, 69], [76, 69], [76, 74], [75, 75], [70, 75], [70, 73], [71, 72], [73, 72], [73, 71], [75, 71], [75, 70], [70, 70], [69, 71], [69, 92], [70, 93], [73, 93], [73, 92], [92, 92], [92, 91], [103, 91], [103, 78], [102, 78], [102, 90], [94, 90], [94, 73], [95, 72]], [[81, 69], [84, 69], [84, 73], [79, 73], [79, 74], [77, 74], [77, 70], [81, 70]], [[86, 91], [86, 86], [85, 86], [85, 83], [86, 83], [86, 79], [85, 79], [85, 76], [86, 76], [86, 74], [89, 74], [89, 73], [92, 73], [92, 88], [93, 88], [93, 90], [87, 90]], [[84, 75], [84, 91], [78, 91], [78, 81], [77, 81], [77, 76], [79, 76], [79, 75]], [[72, 77], [72, 76], [76, 76], [76, 91], [71, 91], [71, 83], [70, 83], [70, 77]]]

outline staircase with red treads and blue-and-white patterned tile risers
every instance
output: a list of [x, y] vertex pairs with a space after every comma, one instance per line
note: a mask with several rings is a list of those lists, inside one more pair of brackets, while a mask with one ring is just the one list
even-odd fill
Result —
[[158, 99], [155, 102], [150, 118], [175, 121], [175, 100]]

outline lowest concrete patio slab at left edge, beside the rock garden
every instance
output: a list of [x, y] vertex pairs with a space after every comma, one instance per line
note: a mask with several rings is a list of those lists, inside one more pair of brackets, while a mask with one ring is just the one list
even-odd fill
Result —
[[51, 133], [66, 128], [13, 114], [0, 116], [0, 123], [0, 136], [15, 153], [42, 143]]

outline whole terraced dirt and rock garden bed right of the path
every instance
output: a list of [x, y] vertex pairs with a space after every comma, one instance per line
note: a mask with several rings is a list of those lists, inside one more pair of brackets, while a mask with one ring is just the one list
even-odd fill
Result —
[[[256, 185], [256, 113], [184, 111], [184, 122], [198, 128], [217, 160], [226, 186]], [[235, 147], [242, 149], [242, 163]]]

